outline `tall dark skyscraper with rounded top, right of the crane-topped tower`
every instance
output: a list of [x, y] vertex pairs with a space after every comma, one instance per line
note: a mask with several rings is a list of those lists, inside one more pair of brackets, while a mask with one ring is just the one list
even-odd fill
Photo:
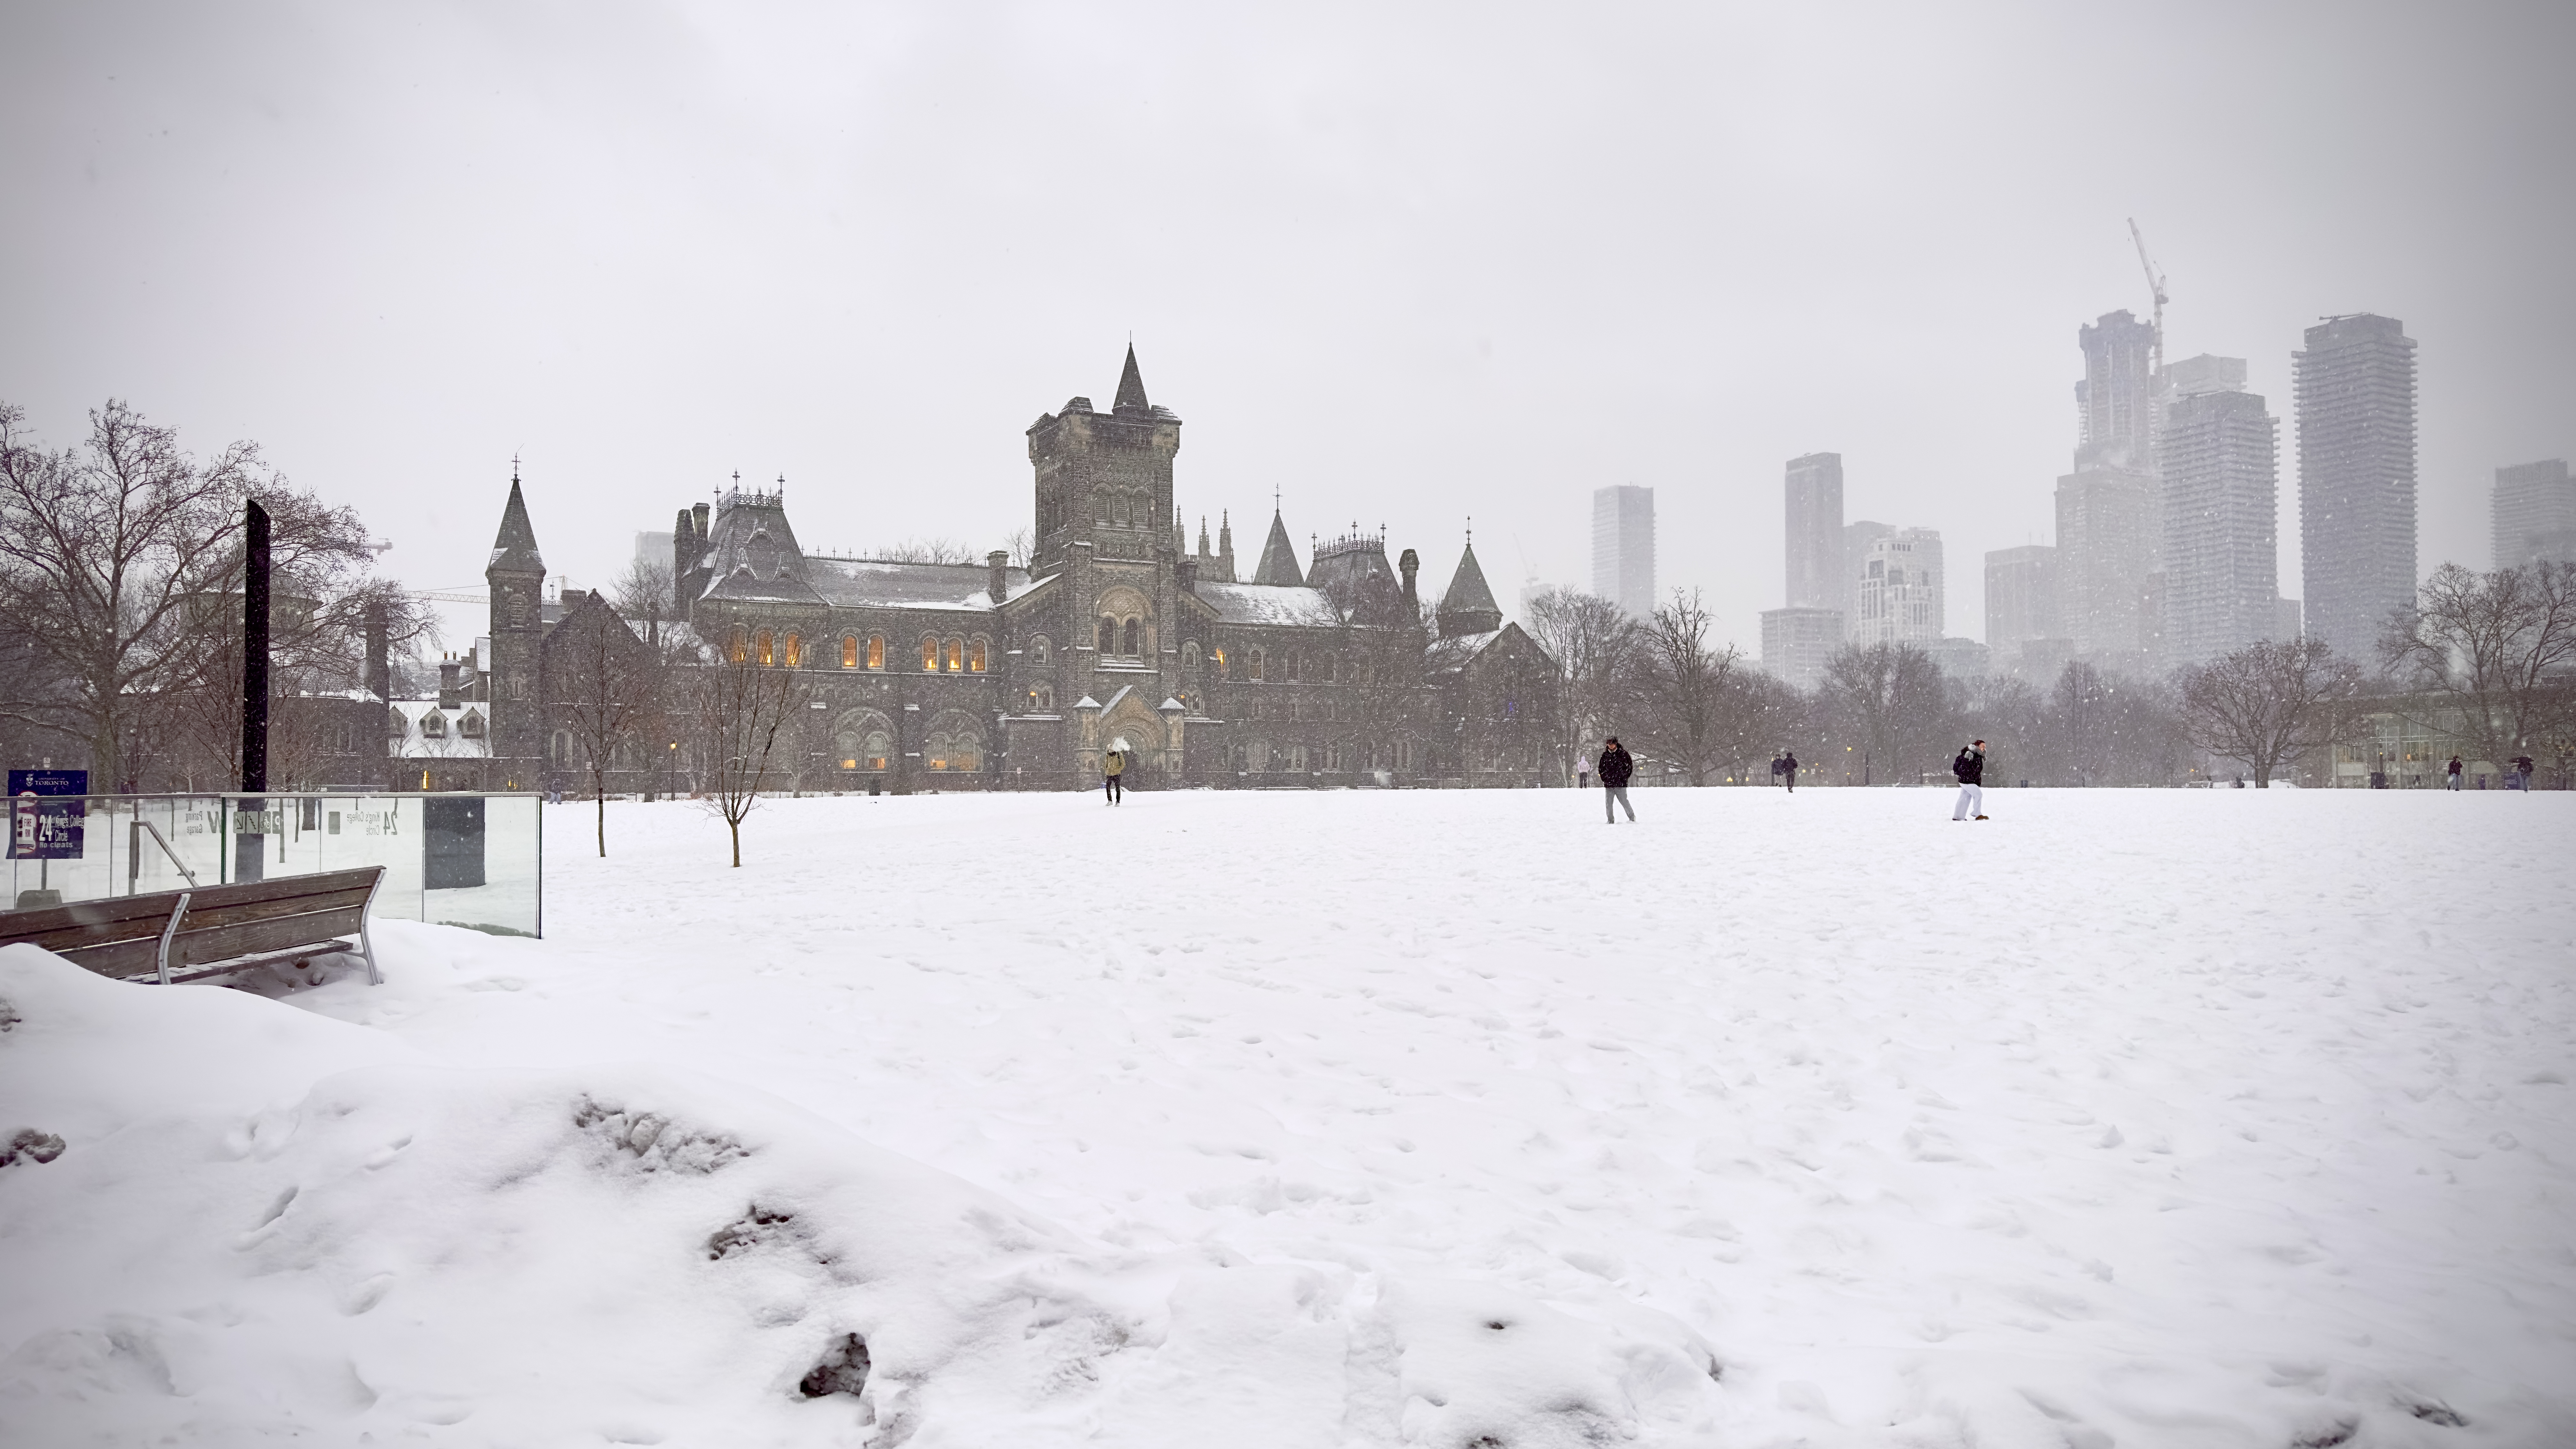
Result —
[[2298, 394], [2298, 541], [2308, 637], [2372, 657], [2416, 583], [2416, 358], [2396, 317], [2308, 327]]

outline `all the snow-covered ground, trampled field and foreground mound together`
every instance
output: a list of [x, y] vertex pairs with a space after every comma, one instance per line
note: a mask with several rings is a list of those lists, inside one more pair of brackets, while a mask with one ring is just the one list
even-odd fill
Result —
[[10, 949], [0, 1441], [2576, 1444], [2576, 797], [1597, 807], [567, 804], [381, 987]]

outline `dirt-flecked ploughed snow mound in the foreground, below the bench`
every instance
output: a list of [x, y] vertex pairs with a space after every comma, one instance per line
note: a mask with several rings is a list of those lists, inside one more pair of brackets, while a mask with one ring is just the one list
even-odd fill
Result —
[[781, 1098], [0, 951], [8, 1444], [1698, 1444], [1610, 1294], [1118, 1253]]

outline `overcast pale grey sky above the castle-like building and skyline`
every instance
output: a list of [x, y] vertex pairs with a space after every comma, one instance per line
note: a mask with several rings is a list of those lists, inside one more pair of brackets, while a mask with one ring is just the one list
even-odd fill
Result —
[[2576, 5], [0, 5], [0, 400], [126, 397], [479, 585], [523, 454], [605, 583], [734, 469], [809, 547], [1028, 518], [1128, 335], [1180, 505], [1388, 523], [1510, 603], [1589, 490], [1752, 647], [1780, 464], [2050, 541], [2076, 325], [2421, 369], [2421, 565], [2576, 451]]

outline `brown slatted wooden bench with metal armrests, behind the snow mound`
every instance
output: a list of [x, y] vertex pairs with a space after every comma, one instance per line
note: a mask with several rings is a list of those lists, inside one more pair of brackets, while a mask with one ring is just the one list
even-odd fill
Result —
[[[350, 951], [384, 982], [366, 933], [384, 866], [0, 910], [0, 946], [26, 941], [116, 980], [160, 985]], [[343, 936], [355, 936], [350, 946]]]

